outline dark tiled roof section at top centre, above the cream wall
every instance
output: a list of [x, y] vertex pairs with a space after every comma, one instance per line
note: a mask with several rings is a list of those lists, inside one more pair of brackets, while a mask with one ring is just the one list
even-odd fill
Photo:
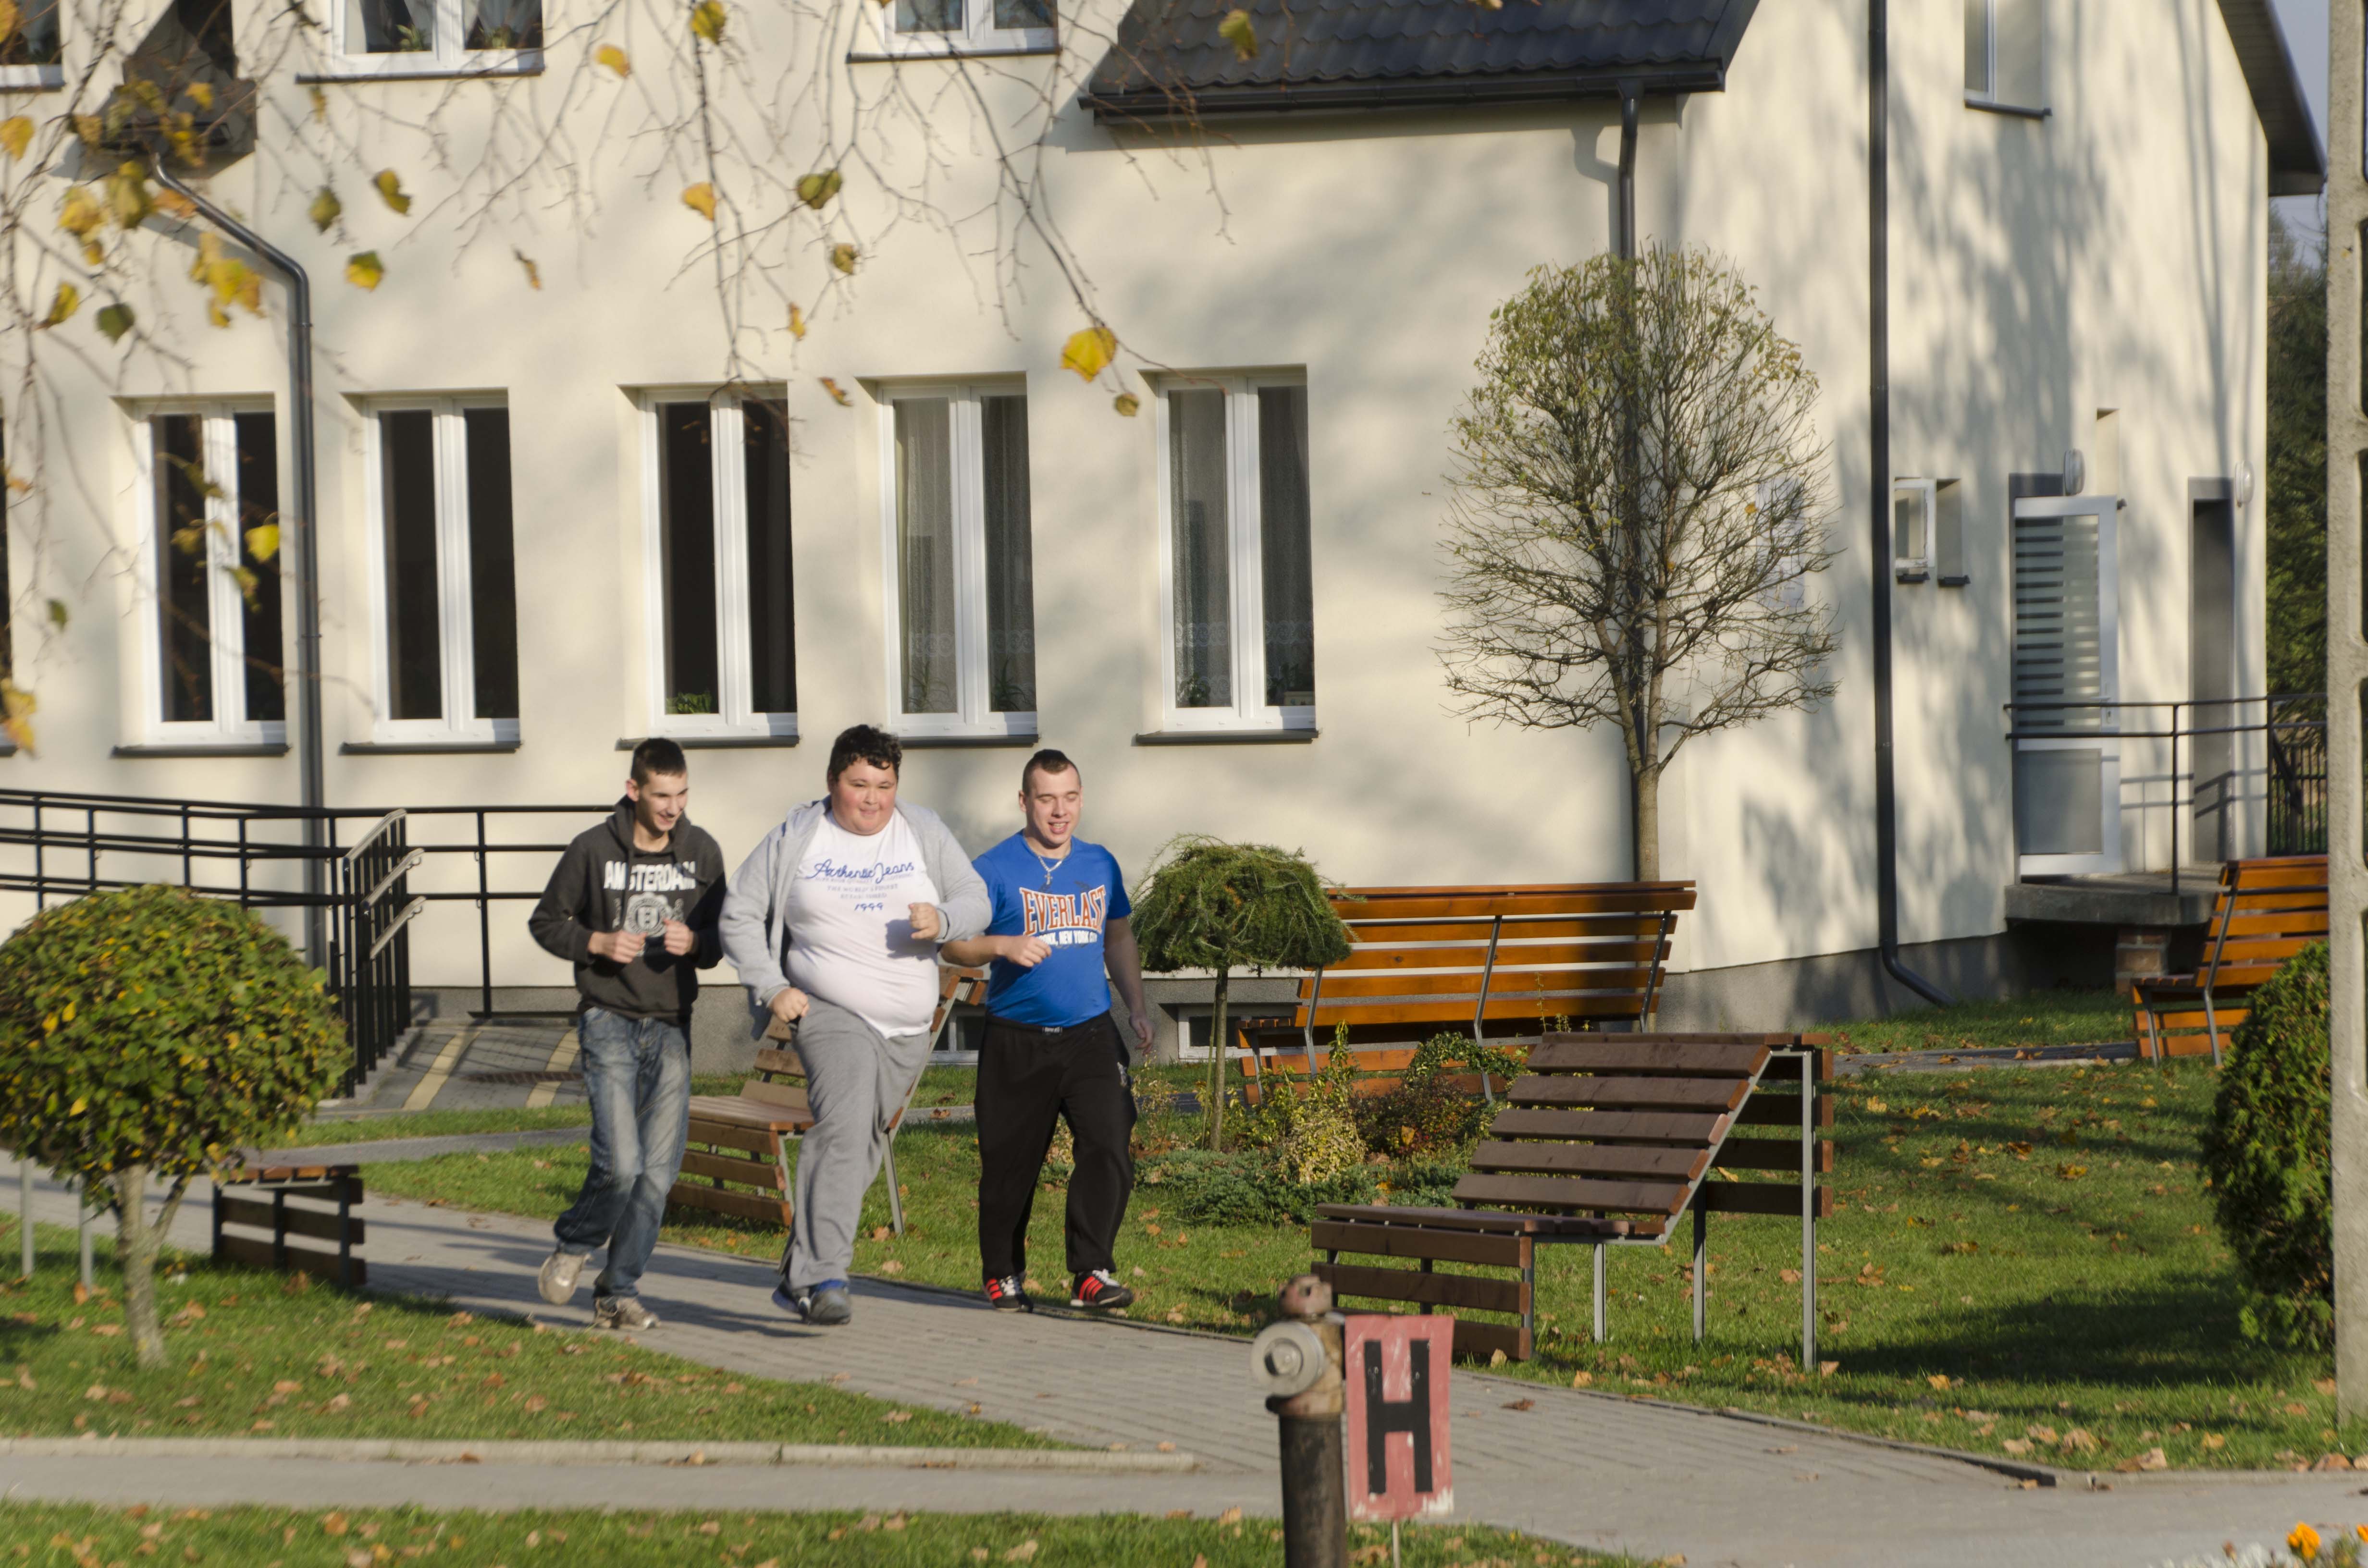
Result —
[[[1759, 0], [1134, 0], [1080, 99], [1101, 118], [1717, 92]], [[1241, 59], [1217, 26], [1248, 9]]]

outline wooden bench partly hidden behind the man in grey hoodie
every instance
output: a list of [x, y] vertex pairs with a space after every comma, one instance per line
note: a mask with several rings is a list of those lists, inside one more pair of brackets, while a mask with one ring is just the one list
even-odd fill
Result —
[[[938, 1011], [928, 1021], [928, 1040], [935, 1047], [945, 1033], [954, 1007], [985, 995], [985, 969], [940, 969]], [[796, 1040], [796, 1026], [774, 1021], [765, 1040], [784, 1047]], [[921, 1080], [914, 1078], [914, 1090]], [[895, 1232], [905, 1234], [905, 1201], [895, 1189], [895, 1130], [912, 1108], [905, 1106], [888, 1123], [888, 1217]], [[739, 1094], [694, 1094], [691, 1130], [682, 1151], [682, 1172], [673, 1191], [665, 1194], [668, 1213], [682, 1208], [706, 1208], [744, 1220], [774, 1222], [784, 1229], [796, 1225], [791, 1206], [789, 1144], [805, 1137], [815, 1125], [815, 1111], [805, 1097], [805, 1063], [793, 1049], [760, 1045], [755, 1052], [755, 1078], [741, 1085]], [[753, 1189], [753, 1191], [751, 1191]]]

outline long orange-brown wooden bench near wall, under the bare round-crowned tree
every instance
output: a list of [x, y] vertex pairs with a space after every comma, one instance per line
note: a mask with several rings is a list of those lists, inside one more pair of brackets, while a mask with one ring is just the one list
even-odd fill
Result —
[[[1288, 1018], [1243, 1018], [1246, 1099], [1257, 1104], [1262, 1075], [1319, 1071], [1319, 1037], [1331, 1045], [1343, 1026], [1359, 1073], [1385, 1078], [1449, 1028], [1520, 1042], [1558, 1023], [1643, 1026], [1688, 910], [1691, 881], [1343, 888], [1333, 912], [1350, 955], [1300, 981]], [[1291, 1047], [1300, 1061], [1283, 1066]], [[1494, 1099], [1478, 1075], [1473, 1087]]]

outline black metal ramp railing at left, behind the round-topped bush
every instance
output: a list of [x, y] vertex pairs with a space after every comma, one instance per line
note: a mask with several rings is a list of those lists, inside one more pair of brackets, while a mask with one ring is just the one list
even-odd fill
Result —
[[[31, 893], [33, 905], [102, 888], [168, 881], [249, 910], [327, 907], [327, 971], [353, 1042], [346, 1087], [360, 1082], [412, 1026], [412, 936], [438, 910], [476, 912], [478, 1009], [493, 1007], [493, 907], [542, 895], [566, 841], [497, 838], [519, 817], [609, 815], [609, 805], [412, 805], [329, 808], [237, 805], [156, 796], [95, 796], [0, 789], [0, 893]], [[303, 843], [320, 820], [324, 846]], [[457, 879], [431, 876], [450, 857], [469, 865]], [[526, 857], [528, 876], [507, 881], [493, 862]], [[327, 891], [308, 895], [308, 860], [327, 862]], [[414, 879], [426, 886], [414, 886]], [[462, 886], [438, 886], [459, 881]], [[474, 883], [474, 886], [471, 886]]]

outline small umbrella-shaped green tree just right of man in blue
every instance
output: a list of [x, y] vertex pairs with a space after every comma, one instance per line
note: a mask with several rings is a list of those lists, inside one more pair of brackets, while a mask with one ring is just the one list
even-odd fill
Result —
[[1167, 843], [1134, 898], [1144, 969], [1217, 976], [1208, 1056], [1208, 1146], [1224, 1149], [1224, 992], [1241, 964], [1317, 969], [1347, 957], [1347, 926], [1305, 855], [1186, 834]]

